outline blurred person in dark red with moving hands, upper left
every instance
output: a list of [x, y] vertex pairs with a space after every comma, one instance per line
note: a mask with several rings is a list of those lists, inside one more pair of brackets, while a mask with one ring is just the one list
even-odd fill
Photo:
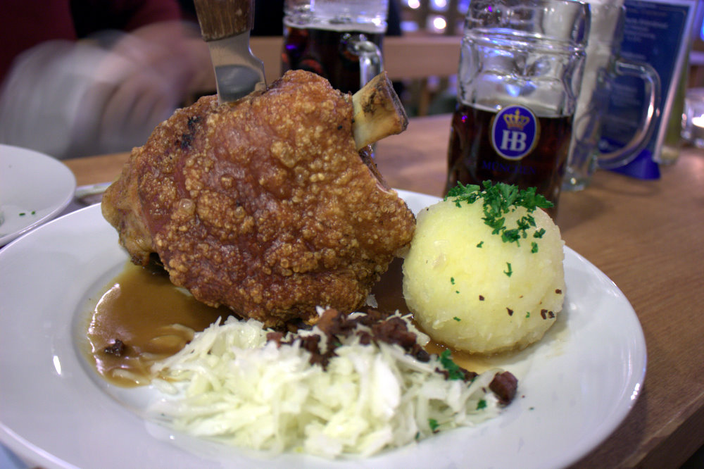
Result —
[[214, 83], [177, 0], [0, 0], [0, 143], [56, 158], [129, 151]]

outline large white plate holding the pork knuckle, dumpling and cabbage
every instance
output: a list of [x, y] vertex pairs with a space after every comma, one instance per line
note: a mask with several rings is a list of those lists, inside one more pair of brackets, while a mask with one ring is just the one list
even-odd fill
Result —
[[[399, 191], [414, 211], [435, 197]], [[44, 468], [559, 468], [600, 444], [639, 395], [646, 345], [617, 286], [565, 248], [567, 294], [536, 346], [505, 358], [518, 394], [497, 418], [365, 460], [263, 456], [175, 434], [144, 416], [151, 387], [106, 383], [80, 351], [87, 303], [127, 254], [100, 207], [0, 251], [0, 440]]]

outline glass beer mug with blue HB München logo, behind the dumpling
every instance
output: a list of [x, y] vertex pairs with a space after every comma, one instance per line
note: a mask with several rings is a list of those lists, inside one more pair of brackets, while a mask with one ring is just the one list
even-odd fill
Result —
[[584, 70], [589, 6], [472, 0], [465, 18], [446, 190], [484, 180], [555, 204]]

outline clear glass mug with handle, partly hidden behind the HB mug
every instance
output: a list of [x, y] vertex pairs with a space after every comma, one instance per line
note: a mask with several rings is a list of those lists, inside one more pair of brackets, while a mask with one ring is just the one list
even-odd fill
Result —
[[[586, 46], [586, 65], [582, 88], [572, 124], [572, 141], [562, 189], [581, 190], [598, 167], [618, 168], [633, 161], [648, 143], [653, 132], [655, 109], [660, 101], [660, 78], [648, 63], [620, 56], [625, 8], [623, 0], [591, 0], [591, 27]], [[645, 85], [646, 99], [638, 130], [630, 142], [611, 153], [598, 149], [601, 123], [608, 107], [611, 82], [620, 75], [639, 77]]]

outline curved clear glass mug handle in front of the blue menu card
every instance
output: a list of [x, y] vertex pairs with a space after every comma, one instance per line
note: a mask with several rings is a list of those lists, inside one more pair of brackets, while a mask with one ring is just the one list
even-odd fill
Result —
[[611, 153], [598, 154], [599, 168], [613, 169], [627, 165], [639, 155], [647, 144], [647, 137], [653, 132], [658, 106], [660, 105], [660, 75], [648, 63], [629, 61], [617, 58], [615, 61], [616, 75], [630, 75], [640, 77], [645, 83], [646, 100], [645, 109], [641, 115], [636, 134], [623, 148]]

